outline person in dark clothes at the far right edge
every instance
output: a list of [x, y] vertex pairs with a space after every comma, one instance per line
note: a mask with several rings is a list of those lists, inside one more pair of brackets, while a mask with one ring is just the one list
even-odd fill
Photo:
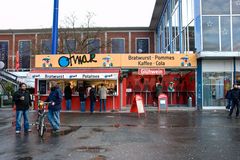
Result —
[[233, 89], [231, 90], [232, 107], [230, 109], [228, 118], [231, 118], [235, 107], [237, 108], [236, 118], [238, 118], [238, 116], [239, 116], [239, 98], [240, 98], [240, 90], [238, 89], [237, 84], [234, 84]]

